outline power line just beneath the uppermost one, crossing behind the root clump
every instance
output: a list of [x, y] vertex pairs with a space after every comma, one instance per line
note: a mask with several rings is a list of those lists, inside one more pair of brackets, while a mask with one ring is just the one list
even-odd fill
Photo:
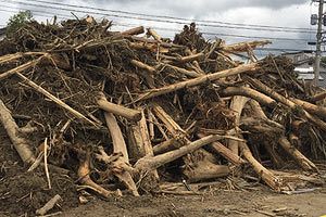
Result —
[[[7, 2], [5, 0], [1, 0], [2, 2]], [[140, 17], [140, 16], [130, 16], [130, 15], [118, 15], [118, 14], [108, 14], [108, 13], [102, 13], [102, 12], [90, 12], [90, 11], [85, 11], [85, 10], [76, 10], [75, 8], [83, 8], [89, 10], [90, 8], [88, 7], [78, 7], [74, 4], [64, 4], [64, 3], [50, 3], [47, 2], [48, 4], [52, 5], [45, 5], [45, 4], [35, 4], [35, 3], [26, 3], [24, 1], [17, 1], [17, 0], [9, 0], [11, 2], [16, 2], [21, 3], [24, 5], [28, 7], [41, 7], [46, 9], [52, 9], [52, 10], [62, 10], [62, 11], [73, 11], [73, 12], [79, 12], [79, 13], [92, 13], [92, 14], [98, 14], [98, 15], [105, 15], [109, 17], [122, 17], [122, 18], [131, 18], [131, 20], [140, 20], [140, 21], [151, 21], [151, 22], [159, 22], [159, 23], [174, 23], [174, 24], [188, 24], [186, 22], [180, 22], [180, 21], [168, 21], [168, 20], [158, 20], [158, 18], [151, 18], [151, 17]], [[53, 7], [53, 5], [64, 5], [64, 7], [75, 7], [74, 9], [66, 9], [66, 8], [61, 8], [61, 7]], [[103, 11], [103, 10], [101, 10]], [[212, 24], [199, 24], [199, 26], [204, 26], [204, 27], [214, 27], [214, 28], [230, 28], [230, 29], [246, 29], [246, 30], [259, 30], [259, 31], [283, 31], [283, 33], [305, 33], [305, 34], [312, 34], [314, 31], [312, 30], [294, 30], [294, 29], [289, 29], [289, 28], [283, 28], [283, 29], [272, 29], [272, 28], [258, 28], [258, 27], [244, 27], [244, 26], [227, 26], [227, 25], [212, 25]]]

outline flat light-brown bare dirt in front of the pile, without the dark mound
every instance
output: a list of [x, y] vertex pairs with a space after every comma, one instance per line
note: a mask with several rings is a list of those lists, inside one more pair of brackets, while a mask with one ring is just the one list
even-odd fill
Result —
[[[278, 210], [278, 212], [277, 212]], [[266, 212], [265, 214], [263, 214]], [[93, 201], [65, 212], [62, 217], [91, 216], [309, 216], [326, 215], [326, 189], [284, 195], [267, 190], [220, 192], [214, 196], [141, 196], [112, 202]]]

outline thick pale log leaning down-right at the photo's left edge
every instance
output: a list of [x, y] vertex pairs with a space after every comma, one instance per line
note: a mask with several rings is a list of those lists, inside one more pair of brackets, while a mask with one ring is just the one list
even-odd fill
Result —
[[26, 138], [22, 137], [20, 128], [11, 116], [10, 111], [7, 108], [2, 100], [0, 100], [0, 122], [4, 127], [13, 146], [17, 151], [22, 161], [25, 164], [33, 164], [35, 162], [34, 153]]

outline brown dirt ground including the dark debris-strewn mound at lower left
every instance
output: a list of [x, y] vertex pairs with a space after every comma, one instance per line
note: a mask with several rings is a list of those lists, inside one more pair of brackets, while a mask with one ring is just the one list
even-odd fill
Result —
[[[241, 191], [209, 189], [203, 195], [123, 196], [109, 201], [88, 196], [89, 202], [80, 205], [76, 180], [70, 176], [51, 170], [52, 190], [47, 190], [42, 169], [26, 173], [7, 135], [0, 129], [0, 217], [35, 216], [35, 210], [54, 194], [60, 194], [63, 201], [61, 207], [51, 213], [61, 212], [57, 216], [62, 217], [326, 215], [325, 184], [313, 193], [297, 195], [276, 194], [255, 183]], [[275, 212], [277, 209], [278, 213]]]

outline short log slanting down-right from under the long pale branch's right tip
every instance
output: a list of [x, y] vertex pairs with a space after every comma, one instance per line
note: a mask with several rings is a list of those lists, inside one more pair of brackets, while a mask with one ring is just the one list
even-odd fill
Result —
[[[197, 133], [199, 138], [203, 138], [203, 133]], [[236, 155], [231, 150], [227, 149], [225, 145], [223, 145], [221, 142], [213, 142], [208, 145], [209, 149], [213, 150], [214, 152], [221, 154], [224, 158], [229, 161], [230, 163], [235, 165], [241, 165], [244, 164], [246, 161], [242, 159], [239, 155]]]

